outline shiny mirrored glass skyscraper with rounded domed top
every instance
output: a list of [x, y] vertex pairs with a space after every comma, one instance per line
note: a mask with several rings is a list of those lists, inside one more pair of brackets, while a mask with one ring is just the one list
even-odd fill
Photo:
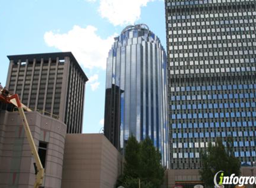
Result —
[[106, 137], [118, 149], [134, 135], [149, 136], [168, 166], [166, 55], [147, 25], [123, 29], [109, 51], [106, 73]]

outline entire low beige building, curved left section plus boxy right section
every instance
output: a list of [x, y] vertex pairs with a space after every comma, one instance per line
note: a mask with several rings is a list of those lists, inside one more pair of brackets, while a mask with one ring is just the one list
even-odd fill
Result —
[[[26, 117], [45, 168], [42, 187], [114, 188], [122, 156], [103, 134], [66, 135], [66, 125], [57, 119], [38, 112]], [[34, 182], [34, 158], [21, 118], [0, 110], [0, 188], [32, 188]]]

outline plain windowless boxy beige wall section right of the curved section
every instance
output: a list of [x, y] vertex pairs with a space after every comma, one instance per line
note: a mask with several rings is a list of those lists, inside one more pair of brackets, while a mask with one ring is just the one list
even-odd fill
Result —
[[62, 188], [114, 188], [122, 157], [103, 134], [67, 134]]

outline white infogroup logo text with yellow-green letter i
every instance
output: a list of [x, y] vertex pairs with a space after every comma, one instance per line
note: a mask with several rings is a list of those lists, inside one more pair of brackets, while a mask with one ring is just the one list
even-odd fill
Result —
[[[220, 174], [219, 176], [219, 182], [217, 183], [217, 177], [218, 174]], [[231, 174], [231, 176], [224, 176], [224, 172], [223, 171], [219, 171], [215, 174], [214, 176], [214, 185], [215, 188], [224, 188], [224, 184], [233, 184], [233, 185], [237, 185], [239, 187], [242, 187], [243, 185], [247, 185], [247, 184], [256, 184], [256, 177], [254, 176], [235, 176], [235, 174]]]

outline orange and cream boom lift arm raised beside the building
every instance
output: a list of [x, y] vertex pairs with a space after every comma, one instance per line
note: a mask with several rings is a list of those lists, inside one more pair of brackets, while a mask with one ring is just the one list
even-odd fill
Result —
[[29, 146], [32, 151], [32, 155], [35, 159], [35, 165], [36, 165], [36, 181], [34, 183], [34, 188], [39, 188], [42, 185], [42, 180], [44, 177], [44, 168], [42, 167], [41, 160], [38, 155], [37, 148], [34, 143], [33, 136], [31, 134], [28, 121], [26, 119], [24, 110], [31, 112], [27, 106], [21, 103], [20, 98], [18, 94], [10, 94], [10, 92], [0, 84], [0, 102], [7, 103], [7, 104], [13, 104], [14, 106], [17, 106], [19, 110], [19, 114], [21, 116], [22, 124], [25, 129], [26, 137], [29, 141]]

